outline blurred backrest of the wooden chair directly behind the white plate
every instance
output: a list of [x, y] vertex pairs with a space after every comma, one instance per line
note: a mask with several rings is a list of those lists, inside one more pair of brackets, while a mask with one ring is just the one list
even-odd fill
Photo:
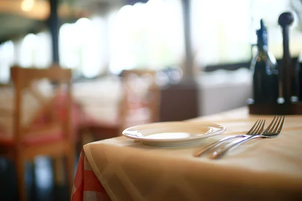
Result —
[[122, 87], [121, 130], [158, 121], [160, 90], [156, 84], [156, 71], [124, 70]]

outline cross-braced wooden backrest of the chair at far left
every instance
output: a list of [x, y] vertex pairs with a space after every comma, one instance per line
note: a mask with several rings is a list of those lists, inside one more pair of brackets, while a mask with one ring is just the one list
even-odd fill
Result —
[[[36, 121], [36, 117], [47, 117], [43, 127], [50, 125], [60, 125], [65, 137], [70, 139], [71, 136], [71, 70], [57, 67], [48, 69], [21, 68], [14, 66], [11, 68], [11, 76], [14, 84], [14, 137], [17, 142], [31, 130], [31, 126]], [[45, 82], [43, 82], [45, 81]], [[55, 86], [51, 82], [57, 83]], [[66, 86], [66, 87], [65, 87]], [[63, 99], [61, 97], [64, 97]], [[28, 105], [23, 102], [27, 100]], [[34, 102], [35, 101], [35, 102]], [[32, 104], [32, 105], [31, 105]], [[31, 106], [38, 109], [30, 111]], [[57, 105], [64, 109], [64, 120], [58, 119]], [[63, 104], [63, 106], [62, 106]], [[31, 105], [31, 106], [30, 106]], [[33, 112], [28, 124], [23, 124], [24, 108], [28, 112]]]

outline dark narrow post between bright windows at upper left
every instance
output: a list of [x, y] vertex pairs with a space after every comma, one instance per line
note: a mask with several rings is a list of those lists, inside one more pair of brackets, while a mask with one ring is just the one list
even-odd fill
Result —
[[48, 27], [52, 38], [52, 62], [59, 63], [59, 17], [58, 17], [58, 0], [49, 0], [50, 16]]

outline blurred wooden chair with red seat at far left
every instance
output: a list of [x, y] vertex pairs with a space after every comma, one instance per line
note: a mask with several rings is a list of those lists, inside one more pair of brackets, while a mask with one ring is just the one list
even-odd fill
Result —
[[[34, 69], [11, 68], [14, 84], [13, 135], [0, 138], [0, 152], [12, 156], [16, 163], [19, 199], [26, 200], [25, 170], [26, 160], [33, 160], [37, 155], [48, 155], [51, 158], [65, 156], [67, 161], [67, 177], [69, 189], [73, 185], [74, 174], [74, 138], [71, 131], [71, 70], [61, 68]], [[36, 80], [49, 79], [58, 83], [55, 95], [46, 98], [33, 86]], [[30, 93], [40, 103], [33, 119], [24, 124], [24, 98]], [[58, 95], [65, 94], [65, 101], [55, 101]], [[64, 96], [64, 95], [63, 95]], [[65, 115], [57, 118], [56, 105], [61, 104]], [[4, 113], [5, 111], [5, 113]], [[0, 116], [9, 116], [10, 112], [2, 109]], [[35, 125], [35, 117], [44, 116], [43, 124]], [[35, 125], [35, 126], [34, 126]]]

